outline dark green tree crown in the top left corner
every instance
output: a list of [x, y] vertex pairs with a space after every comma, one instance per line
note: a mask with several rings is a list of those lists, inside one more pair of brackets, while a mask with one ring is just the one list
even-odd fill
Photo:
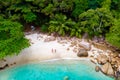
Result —
[[[2, 1], [2, 3], [7, 2]], [[5, 15], [5, 18], [9, 18], [12, 21], [17, 20], [19, 22], [33, 22], [37, 17], [35, 14], [36, 7], [32, 6], [30, 2], [27, 1], [12, 0], [4, 9], [1, 10], [1, 12]]]

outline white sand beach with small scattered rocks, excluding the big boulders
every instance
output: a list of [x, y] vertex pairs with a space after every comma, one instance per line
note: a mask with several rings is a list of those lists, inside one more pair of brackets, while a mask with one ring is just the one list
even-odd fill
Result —
[[[81, 41], [77, 38], [61, 39], [60, 37], [48, 36], [42, 33], [32, 33], [25, 36], [30, 40], [31, 46], [22, 50], [19, 55], [6, 57], [6, 62], [8, 65], [11, 64], [22, 64], [31, 61], [43, 61], [51, 59], [90, 59], [93, 51], [99, 51], [99, 49], [94, 48], [90, 43]], [[47, 39], [51, 39], [48, 40]], [[53, 39], [53, 40], [52, 40]], [[91, 46], [91, 50], [88, 51], [88, 57], [78, 57], [77, 47], [78, 45], [71, 45], [72, 42], [77, 41], [81, 45], [86, 47]]]

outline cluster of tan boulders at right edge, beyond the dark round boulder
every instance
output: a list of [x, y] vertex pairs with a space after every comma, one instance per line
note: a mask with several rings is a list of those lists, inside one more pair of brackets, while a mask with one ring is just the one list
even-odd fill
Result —
[[[94, 43], [95, 44], [95, 43]], [[109, 76], [120, 77], [120, 56], [118, 53], [108, 50], [106, 46], [96, 43], [95, 46], [103, 51], [93, 52], [91, 61], [101, 65], [100, 70]]]

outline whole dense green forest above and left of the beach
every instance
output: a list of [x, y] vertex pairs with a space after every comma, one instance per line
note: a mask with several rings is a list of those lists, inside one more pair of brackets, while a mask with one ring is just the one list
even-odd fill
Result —
[[120, 0], [0, 0], [0, 58], [29, 45], [25, 24], [81, 37], [105, 36], [120, 48]]

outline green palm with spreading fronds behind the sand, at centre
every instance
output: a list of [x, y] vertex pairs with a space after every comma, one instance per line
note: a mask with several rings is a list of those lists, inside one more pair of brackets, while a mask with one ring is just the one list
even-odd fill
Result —
[[54, 19], [49, 22], [49, 31], [56, 32], [59, 35], [70, 34], [70, 36], [81, 37], [81, 29], [76, 22], [67, 19], [65, 15], [56, 14]]

